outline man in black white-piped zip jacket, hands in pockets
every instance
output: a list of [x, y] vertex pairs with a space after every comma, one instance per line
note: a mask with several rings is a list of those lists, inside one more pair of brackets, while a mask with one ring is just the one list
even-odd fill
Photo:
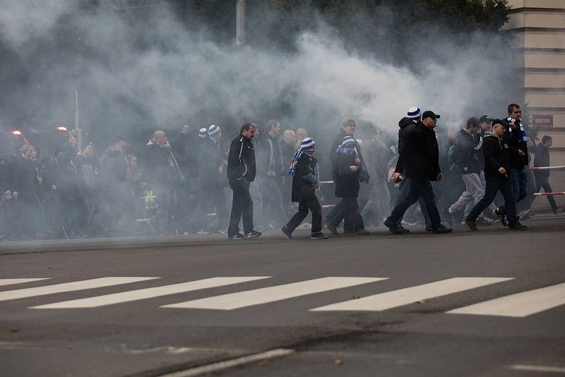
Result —
[[[249, 183], [255, 179], [255, 152], [251, 139], [255, 136], [253, 124], [246, 123], [239, 136], [232, 140], [227, 156], [227, 179], [234, 191], [228, 239], [244, 239], [261, 236], [253, 229], [253, 201]], [[239, 220], [243, 220], [244, 234], [239, 233]]]

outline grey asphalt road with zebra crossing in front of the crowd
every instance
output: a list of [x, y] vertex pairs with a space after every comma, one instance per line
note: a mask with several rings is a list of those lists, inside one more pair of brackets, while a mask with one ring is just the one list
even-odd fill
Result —
[[527, 225], [4, 242], [0, 376], [565, 375], [565, 217]]

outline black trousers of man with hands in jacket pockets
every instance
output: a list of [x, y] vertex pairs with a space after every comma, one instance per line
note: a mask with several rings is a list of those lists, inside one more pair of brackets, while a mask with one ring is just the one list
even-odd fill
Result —
[[253, 201], [249, 195], [249, 181], [230, 179], [230, 187], [234, 191], [234, 196], [227, 236], [231, 237], [239, 232], [239, 220], [243, 222], [245, 234], [250, 233], [253, 230]]

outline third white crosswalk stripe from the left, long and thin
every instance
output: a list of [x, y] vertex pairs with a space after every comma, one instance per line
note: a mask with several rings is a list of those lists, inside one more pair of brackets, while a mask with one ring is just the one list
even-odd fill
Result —
[[77, 308], [97, 308], [123, 302], [152, 299], [154, 297], [167, 296], [182, 292], [196, 291], [198, 289], [222, 287], [242, 282], [267, 279], [270, 276], [238, 276], [238, 277], [210, 277], [209, 279], [195, 280], [193, 282], [183, 282], [173, 285], [163, 285], [133, 291], [105, 294], [103, 296], [87, 297], [69, 301], [60, 301], [53, 304], [32, 306], [30, 309], [77, 309]]

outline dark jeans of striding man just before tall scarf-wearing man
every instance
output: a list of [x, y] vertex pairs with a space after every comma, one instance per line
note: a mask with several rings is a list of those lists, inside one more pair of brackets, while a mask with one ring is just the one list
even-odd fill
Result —
[[487, 208], [490, 203], [494, 201], [496, 193], [500, 191], [502, 196], [504, 196], [504, 214], [508, 218], [509, 226], [513, 227], [514, 225], [517, 225], [518, 218], [516, 217], [516, 202], [514, 201], [514, 196], [512, 194], [511, 180], [505, 176], [485, 176], [485, 178], [487, 180], [487, 188], [484, 190], [484, 196], [480, 202], [472, 208], [471, 212], [467, 216], [467, 220], [477, 220], [477, 217], [479, 217], [484, 208]]

